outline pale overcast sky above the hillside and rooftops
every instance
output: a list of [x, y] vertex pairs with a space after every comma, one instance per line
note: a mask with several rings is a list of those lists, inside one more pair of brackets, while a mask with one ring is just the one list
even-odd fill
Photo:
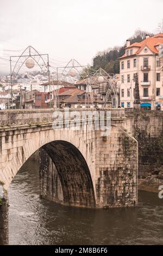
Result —
[[[2, 48], [32, 45], [49, 53], [55, 66], [71, 58], [91, 63], [98, 51], [123, 45], [135, 29], [153, 32], [163, 18], [162, 0], [0, 0], [0, 7], [0, 57]], [[7, 69], [0, 64], [1, 72]]]

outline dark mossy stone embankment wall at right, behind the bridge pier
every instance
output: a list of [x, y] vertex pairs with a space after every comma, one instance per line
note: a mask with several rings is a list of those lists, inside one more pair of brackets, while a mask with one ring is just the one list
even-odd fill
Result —
[[139, 178], [161, 181], [163, 178], [163, 113], [134, 113], [134, 137], [139, 142]]

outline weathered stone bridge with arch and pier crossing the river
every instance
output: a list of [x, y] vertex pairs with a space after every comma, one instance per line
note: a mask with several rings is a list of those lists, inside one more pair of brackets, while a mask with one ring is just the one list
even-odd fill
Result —
[[[82, 113], [88, 109], [71, 109]], [[64, 109], [60, 109], [65, 115]], [[97, 109], [91, 109], [97, 111]], [[138, 144], [133, 118], [124, 109], [111, 112], [110, 134], [95, 129], [97, 116], [68, 120], [54, 129], [54, 109], [0, 112], [0, 230], [7, 222], [7, 190], [29, 157], [40, 151], [40, 194], [65, 205], [113, 208], [137, 204]], [[106, 110], [105, 110], [106, 115]], [[91, 129], [90, 121], [92, 122]], [[2, 190], [2, 189], [1, 189]], [[1, 196], [0, 190], [0, 196]], [[2, 196], [1, 196], [2, 197]], [[0, 234], [0, 244], [7, 243]]]

